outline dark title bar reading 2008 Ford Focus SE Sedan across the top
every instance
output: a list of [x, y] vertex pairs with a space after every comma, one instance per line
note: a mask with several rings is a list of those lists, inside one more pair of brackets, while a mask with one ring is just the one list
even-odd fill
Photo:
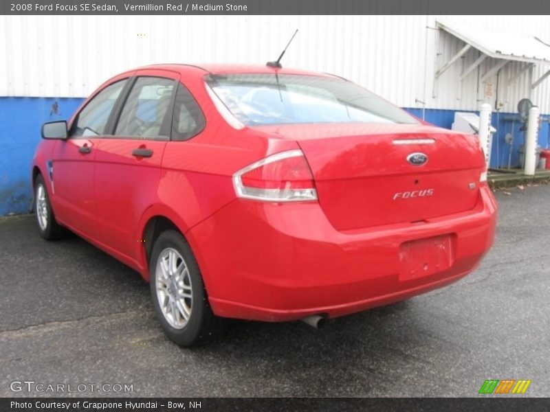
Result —
[[548, 0], [2, 0], [0, 14], [550, 14]]

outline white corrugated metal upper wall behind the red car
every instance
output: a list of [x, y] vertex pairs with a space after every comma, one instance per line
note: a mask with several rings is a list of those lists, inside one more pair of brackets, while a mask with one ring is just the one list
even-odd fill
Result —
[[[358, 82], [399, 106], [476, 110], [476, 71], [463, 82], [463, 67], [477, 57], [470, 50], [443, 73], [432, 98], [435, 65], [463, 43], [439, 32], [436, 16], [0, 16], [0, 95], [84, 97], [115, 73], [159, 62], [243, 62], [274, 60], [294, 30], [283, 65], [328, 71]], [[535, 35], [550, 43], [548, 16], [446, 16], [500, 30]], [[494, 64], [485, 60], [481, 74]], [[499, 100], [515, 111], [529, 97], [529, 73], [514, 87], [500, 74]], [[536, 67], [538, 78], [547, 67]], [[496, 79], [491, 80], [496, 85]], [[459, 98], [460, 97], [460, 98]], [[531, 96], [550, 113], [550, 78]], [[494, 104], [494, 98], [491, 102]]]

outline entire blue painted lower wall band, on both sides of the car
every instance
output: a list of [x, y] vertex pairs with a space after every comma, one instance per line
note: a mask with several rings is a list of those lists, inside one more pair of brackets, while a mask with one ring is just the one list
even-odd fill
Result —
[[[57, 108], [54, 104], [57, 102]], [[0, 216], [21, 214], [28, 211], [32, 191], [30, 186], [30, 163], [36, 144], [40, 141], [40, 128], [45, 122], [69, 119], [83, 102], [81, 98], [0, 98]], [[419, 108], [406, 108], [417, 117], [422, 117]], [[506, 133], [512, 129], [512, 123], [505, 117], [514, 113], [493, 113], [493, 126], [497, 129], [493, 141], [491, 167], [506, 167], [509, 146], [504, 143]], [[548, 116], [545, 117], [548, 119]], [[426, 120], [437, 126], [450, 128], [454, 120], [454, 111], [426, 109]], [[518, 147], [523, 136], [518, 131], [518, 122], [514, 125], [514, 149], [512, 167], [518, 165]], [[539, 145], [549, 147], [550, 128], [543, 122], [538, 137]]]

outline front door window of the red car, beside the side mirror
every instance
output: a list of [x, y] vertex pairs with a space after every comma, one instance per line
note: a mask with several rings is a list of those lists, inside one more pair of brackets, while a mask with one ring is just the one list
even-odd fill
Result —
[[116, 100], [126, 81], [127, 79], [124, 79], [109, 84], [96, 94], [78, 113], [70, 135], [87, 137], [103, 135], [109, 121], [109, 115], [111, 115], [111, 111], [113, 111]]

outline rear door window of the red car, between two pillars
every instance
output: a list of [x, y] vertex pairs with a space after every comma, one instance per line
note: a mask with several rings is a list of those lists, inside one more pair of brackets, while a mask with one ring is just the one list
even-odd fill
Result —
[[132, 87], [117, 122], [115, 136], [168, 137], [163, 127], [172, 102], [175, 81], [166, 78], [140, 77]]

